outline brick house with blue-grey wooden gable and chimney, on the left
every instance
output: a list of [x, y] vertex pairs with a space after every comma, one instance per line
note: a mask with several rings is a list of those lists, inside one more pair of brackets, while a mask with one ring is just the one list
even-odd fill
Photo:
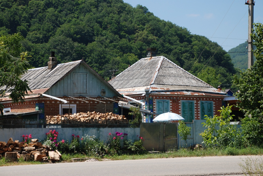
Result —
[[119, 92], [83, 60], [57, 64], [55, 54], [51, 52], [48, 66], [30, 69], [21, 79], [29, 81], [31, 92], [24, 97], [24, 103], [12, 103], [8, 97], [3, 98], [1, 103], [6, 115], [13, 112], [30, 112], [32, 115], [35, 112], [44, 119], [47, 115], [69, 112], [118, 110], [118, 103], [111, 100], [119, 101]]

